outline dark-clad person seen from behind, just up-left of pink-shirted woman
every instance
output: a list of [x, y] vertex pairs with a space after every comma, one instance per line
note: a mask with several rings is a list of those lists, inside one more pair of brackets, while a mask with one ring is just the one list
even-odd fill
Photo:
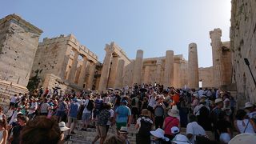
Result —
[[158, 95], [156, 97], [156, 104], [154, 109], [154, 124], [155, 128], [162, 128], [166, 106], [162, 102], [162, 98]]

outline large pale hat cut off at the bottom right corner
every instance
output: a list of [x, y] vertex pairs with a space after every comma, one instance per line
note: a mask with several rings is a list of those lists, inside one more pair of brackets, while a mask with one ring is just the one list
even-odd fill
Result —
[[256, 143], [256, 134], [238, 134], [232, 138], [229, 144]]

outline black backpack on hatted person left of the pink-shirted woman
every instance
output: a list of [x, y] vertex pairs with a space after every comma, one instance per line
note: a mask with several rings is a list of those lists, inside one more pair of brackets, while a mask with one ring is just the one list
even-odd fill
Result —
[[141, 119], [141, 127], [138, 130], [138, 135], [142, 136], [142, 137], [149, 137], [151, 127], [152, 127], [152, 123], [150, 123], [150, 121], [145, 121], [142, 118]]

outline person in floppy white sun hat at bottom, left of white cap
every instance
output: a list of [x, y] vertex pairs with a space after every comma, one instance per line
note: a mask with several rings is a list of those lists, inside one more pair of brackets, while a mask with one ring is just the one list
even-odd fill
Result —
[[154, 136], [152, 144], [165, 144], [170, 142], [170, 139], [164, 136], [165, 131], [162, 130], [161, 128], [158, 128], [157, 130], [154, 131], [150, 131], [150, 134]]

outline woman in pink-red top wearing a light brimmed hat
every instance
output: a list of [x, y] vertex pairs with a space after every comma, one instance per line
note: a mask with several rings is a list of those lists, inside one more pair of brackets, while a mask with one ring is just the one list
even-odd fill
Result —
[[165, 136], [167, 138], [173, 139], [174, 134], [171, 133], [171, 128], [174, 126], [180, 127], [180, 122], [178, 119], [179, 112], [178, 109], [173, 107], [172, 109], [168, 110], [168, 117], [165, 118], [163, 123], [163, 128], [165, 130]]

